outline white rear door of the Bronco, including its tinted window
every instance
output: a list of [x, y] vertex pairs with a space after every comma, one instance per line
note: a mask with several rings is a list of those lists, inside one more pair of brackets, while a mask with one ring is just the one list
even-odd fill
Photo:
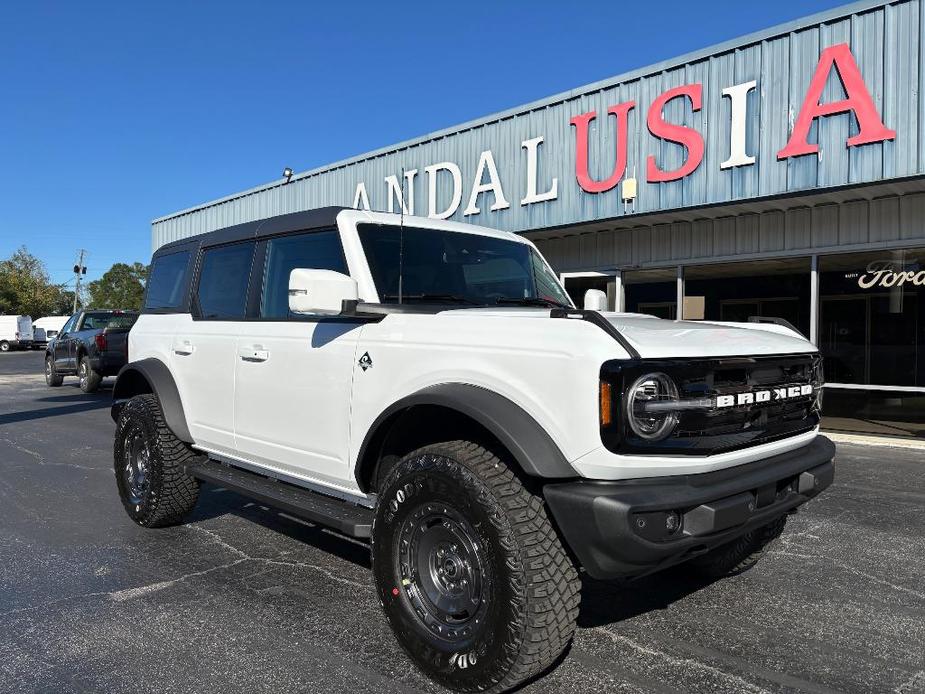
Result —
[[238, 333], [244, 325], [254, 241], [204, 248], [191, 314], [177, 316], [170, 352], [187, 425], [196, 444], [234, 453]]

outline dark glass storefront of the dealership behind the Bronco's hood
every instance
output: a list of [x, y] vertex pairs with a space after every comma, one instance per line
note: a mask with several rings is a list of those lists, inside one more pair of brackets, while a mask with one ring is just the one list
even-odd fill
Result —
[[[925, 249], [823, 255], [817, 263], [823, 427], [925, 438]], [[685, 267], [682, 313], [782, 318], [809, 338], [812, 277], [808, 256]], [[623, 287], [624, 310], [677, 317], [677, 268], [625, 270]]]

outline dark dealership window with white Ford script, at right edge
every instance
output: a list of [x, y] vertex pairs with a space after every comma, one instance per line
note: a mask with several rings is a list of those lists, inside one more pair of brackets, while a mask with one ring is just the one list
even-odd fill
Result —
[[925, 249], [819, 258], [828, 428], [925, 436]]

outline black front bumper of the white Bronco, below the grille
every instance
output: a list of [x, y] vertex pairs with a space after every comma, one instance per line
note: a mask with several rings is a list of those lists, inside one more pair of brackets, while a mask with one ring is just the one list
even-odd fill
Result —
[[832, 483], [834, 458], [835, 445], [817, 436], [796, 450], [716, 472], [548, 484], [543, 495], [588, 574], [635, 577], [702, 554], [803, 504]]

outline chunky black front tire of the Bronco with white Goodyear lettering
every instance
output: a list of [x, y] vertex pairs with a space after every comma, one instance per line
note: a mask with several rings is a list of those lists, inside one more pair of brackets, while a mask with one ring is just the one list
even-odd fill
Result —
[[[502, 458], [469, 441], [410, 453], [379, 491], [372, 530], [376, 588], [396, 638], [417, 667], [461, 692], [506, 691], [548, 669], [575, 631], [581, 581], [543, 500], [524, 488]], [[425, 625], [415, 608], [420, 598], [414, 602], [420, 573], [408, 568], [412, 562], [403, 569], [400, 559], [410, 556], [402, 549], [414, 537], [408, 524], [416, 533], [419, 514], [441, 509], [468, 524], [485, 568], [483, 619], [449, 629], [448, 636], [463, 632], [456, 640]]]

